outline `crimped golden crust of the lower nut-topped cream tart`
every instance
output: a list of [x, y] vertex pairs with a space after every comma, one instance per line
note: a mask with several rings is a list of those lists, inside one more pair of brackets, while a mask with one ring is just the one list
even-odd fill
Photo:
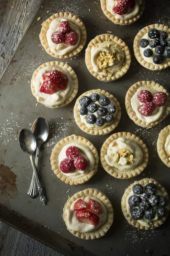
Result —
[[[107, 154], [109, 145], [113, 142], [113, 140], [116, 140], [119, 137], [124, 137], [128, 140], [132, 140], [137, 145], [139, 145], [139, 147], [142, 150], [142, 153], [143, 153], [142, 162], [138, 166], [136, 166], [136, 168], [134, 168], [133, 170], [127, 170], [127, 171], [119, 170], [114, 166], [109, 166], [105, 160], [105, 155]], [[132, 177], [139, 175], [147, 167], [148, 157], [149, 155], [148, 155], [146, 145], [143, 143], [143, 141], [139, 137], [137, 137], [135, 134], [131, 134], [130, 132], [118, 132], [116, 134], [111, 135], [107, 140], [105, 140], [100, 151], [100, 162], [102, 164], [102, 167], [110, 175], [118, 179], [130, 179]]]

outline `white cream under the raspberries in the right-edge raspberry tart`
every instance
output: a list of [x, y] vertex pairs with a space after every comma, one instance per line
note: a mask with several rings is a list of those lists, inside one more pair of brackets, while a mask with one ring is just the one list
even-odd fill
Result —
[[131, 98], [131, 107], [132, 107], [133, 111], [136, 113], [137, 118], [141, 121], [145, 121], [148, 124], [150, 124], [151, 122], [155, 122], [155, 121], [159, 120], [159, 118], [161, 118], [161, 116], [164, 113], [164, 106], [162, 106], [162, 107], [155, 106], [154, 109], [153, 109], [153, 112], [151, 113], [150, 116], [142, 116], [139, 113], [138, 108], [143, 103], [139, 102], [139, 99], [137, 98], [137, 95], [138, 95], [139, 91], [141, 91], [141, 90], [148, 90], [152, 93], [152, 95], [157, 93], [157, 91], [153, 90], [150, 87], [142, 86], [142, 87], [138, 88], [136, 93]]

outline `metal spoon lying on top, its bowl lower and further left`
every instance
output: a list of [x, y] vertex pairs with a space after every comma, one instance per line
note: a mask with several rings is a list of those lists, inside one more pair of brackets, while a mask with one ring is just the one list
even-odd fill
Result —
[[35, 179], [36, 179], [36, 182], [37, 182], [38, 192], [40, 194], [40, 200], [45, 205], [46, 202], [47, 202], [47, 199], [45, 198], [42, 186], [40, 184], [40, 180], [38, 179], [38, 175], [37, 175], [35, 164], [34, 164], [34, 159], [32, 157], [32, 154], [34, 153], [34, 151], [37, 147], [35, 137], [31, 133], [31, 131], [29, 131], [27, 129], [22, 129], [20, 131], [18, 140], [19, 140], [21, 149], [25, 153], [29, 154], [29, 156], [30, 156], [32, 168], [33, 168]]

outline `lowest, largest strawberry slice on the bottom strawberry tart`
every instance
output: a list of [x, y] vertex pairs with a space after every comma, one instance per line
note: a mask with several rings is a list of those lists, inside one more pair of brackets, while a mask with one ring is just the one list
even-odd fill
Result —
[[87, 209], [77, 210], [76, 217], [80, 222], [93, 226], [96, 226], [99, 222], [99, 217], [95, 213], [90, 212]]

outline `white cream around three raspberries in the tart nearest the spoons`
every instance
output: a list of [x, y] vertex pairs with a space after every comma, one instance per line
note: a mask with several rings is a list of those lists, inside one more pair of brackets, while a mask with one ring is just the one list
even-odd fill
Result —
[[86, 145], [84, 145], [82, 143], [74, 142], [74, 143], [69, 143], [69, 144], [65, 145], [62, 148], [62, 150], [60, 151], [59, 156], [58, 156], [59, 164], [61, 163], [62, 160], [67, 158], [65, 152], [66, 152], [67, 148], [69, 148], [71, 146], [74, 146], [74, 147], [77, 147], [80, 149], [80, 155], [85, 157], [85, 159], [88, 161], [88, 165], [84, 171], [80, 171], [75, 168], [72, 172], [64, 173], [64, 175], [69, 176], [69, 177], [74, 177], [74, 178], [79, 178], [84, 175], [87, 175], [91, 170], [94, 169], [95, 160], [94, 160], [94, 155], [91, 152], [91, 150]]

